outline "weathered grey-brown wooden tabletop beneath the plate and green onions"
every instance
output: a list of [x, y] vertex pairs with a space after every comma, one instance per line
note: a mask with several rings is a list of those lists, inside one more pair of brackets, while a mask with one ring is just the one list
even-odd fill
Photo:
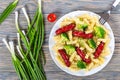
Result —
[[[13, 0], [0, 0], [0, 13]], [[101, 13], [108, 10], [114, 0], [43, 0], [43, 13], [45, 19], [45, 42], [43, 45], [47, 63], [45, 71], [48, 80], [120, 80], [120, 4], [113, 9], [111, 17], [108, 21], [115, 36], [115, 51], [109, 64], [100, 72], [87, 76], [76, 77], [69, 75], [59, 69], [51, 59], [48, 49], [49, 33], [54, 23], [49, 23], [46, 19], [48, 13], [54, 12], [59, 19], [64, 14], [74, 10], [90, 10]], [[20, 0], [17, 10], [23, 5], [27, 5], [29, 15], [32, 17], [36, 9], [34, 0]], [[16, 39], [16, 28], [14, 23], [14, 13], [12, 13], [0, 25], [0, 80], [18, 80], [11, 63], [11, 55], [2, 42], [2, 38], [8, 37], [10, 40]], [[20, 23], [26, 28], [26, 20], [23, 13], [20, 14]]]

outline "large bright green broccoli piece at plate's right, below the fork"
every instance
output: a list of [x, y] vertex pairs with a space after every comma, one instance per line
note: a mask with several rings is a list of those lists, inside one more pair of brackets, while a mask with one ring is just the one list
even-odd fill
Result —
[[96, 26], [94, 27], [95, 35], [99, 38], [104, 38], [105, 30], [102, 27]]

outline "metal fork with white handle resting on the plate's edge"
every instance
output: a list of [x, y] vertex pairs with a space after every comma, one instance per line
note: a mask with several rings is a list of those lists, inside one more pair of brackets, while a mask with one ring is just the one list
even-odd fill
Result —
[[119, 4], [120, 0], [115, 0], [111, 9], [108, 11], [103, 12], [101, 15], [101, 18], [99, 19], [99, 22], [103, 25], [110, 17], [111, 10], [115, 8]]

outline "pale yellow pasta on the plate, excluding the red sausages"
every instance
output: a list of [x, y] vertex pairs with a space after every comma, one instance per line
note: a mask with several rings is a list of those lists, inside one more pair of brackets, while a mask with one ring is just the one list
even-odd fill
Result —
[[[60, 24], [60, 28], [69, 25], [71, 23], [75, 23], [75, 28], [73, 30], [77, 30], [77, 31], [83, 31], [85, 34], [89, 34], [89, 33], [93, 33], [93, 37], [92, 40], [95, 42], [92, 46], [88, 43], [88, 38], [85, 37], [78, 37], [78, 36], [73, 36], [73, 31], [69, 30], [66, 33], [66, 35], [68, 36], [68, 38], [64, 39], [62, 37], [66, 36], [58, 34], [54, 36], [54, 41], [55, 41], [55, 45], [53, 46], [53, 50], [56, 52], [56, 59], [58, 60], [58, 62], [63, 65], [65, 65], [64, 59], [62, 58], [62, 56], [59, 54], [58, 50], [59, 49], [64, 49], [66, 51], [66, 54], [69, 57], [69, 61], [70, 61], [70, 66], [68, 67], [70, 70], [74, 70], [74, 71], [78, 71], [82, 68], [79, 67], [78, 65], [78, 61], [84, 61], [84, 59], [82, 59], [82, 57], [77, 53], [76, 51], [76, 47], [79, 47], [79, 49], [81, 51], [83, 51], [84, 55], [85, 55], [85, 59], [90, 58], [91, 62], [85, 63], [86, 67], [84, 68], [86, 71], [89, 71], [93, 68], [96, 68], [100, 65], [102, 65], [105, 61], [105, 56], [109, 55], [110, 50], [109, 50], [109, 42], [110, 42], [110, 38], [109, 38], [109, 30], [106, 29], [103, 25], [101, 25], [99, 23], [98, 17], [96, 16], [91, 16], [89, 14], [83, 14], [77, 17], [71, 17], [71, 18], [65, 18], [61, 24]], [[87, 26], [87, 28], [85, 25]], [[82, 26], [84, 25], [84, 26]], [[81, 26], [83, 28], [81, 28]], [[101, 34], [98, 31], [98, 33], [95, 32], [95, 27], [96, 26], [100, 26], [101, 29]], [[103, 36], [104, 35], [104, 36]], [[99, 37], [100, 36], [100, 37]], [[101, 37], [102, 36], [102, 37]], [[104, 42], [104, 48], [102, 50], [102, 52], [100, 53], [98, 58], [95, 58], [95, 51], [97, 51], [98, 46], [100, 45], [101, 42]], [[67, 47], [71, 47], [74, 46], [74, 48], [71, 48], [70, 51], [66, 50], [66, 47], [64, 47], [65, 45], [69, 45]], [[71, 52], [72, 51], [72, 52]]]

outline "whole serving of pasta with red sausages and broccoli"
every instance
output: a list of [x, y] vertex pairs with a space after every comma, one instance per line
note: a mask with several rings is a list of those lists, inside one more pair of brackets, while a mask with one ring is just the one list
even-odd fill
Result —
[[74, 71], [89, 71], [104, 63], [105, 56], [110, 53], [109, 30], [99, 23], [97, 16], [67, 17], [59, 26], [53, 50], [62, 66]]

